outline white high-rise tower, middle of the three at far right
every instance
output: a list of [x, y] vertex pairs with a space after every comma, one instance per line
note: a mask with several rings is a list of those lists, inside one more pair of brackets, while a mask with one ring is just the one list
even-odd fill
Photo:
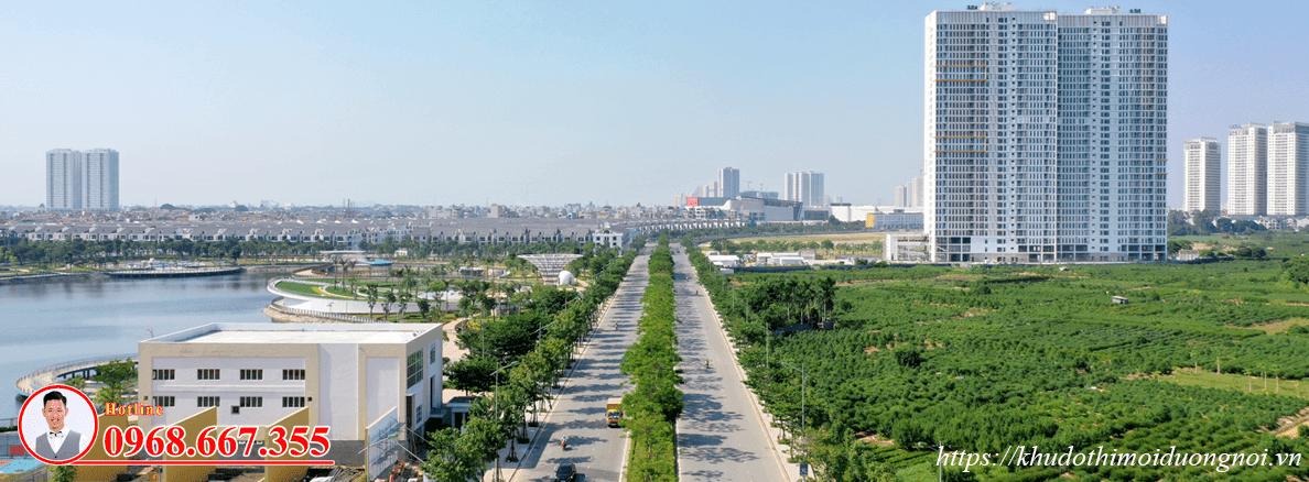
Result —
[[1228, 129], [1228, 214], [1263, 216], [1268, 204], [1268, 127]]

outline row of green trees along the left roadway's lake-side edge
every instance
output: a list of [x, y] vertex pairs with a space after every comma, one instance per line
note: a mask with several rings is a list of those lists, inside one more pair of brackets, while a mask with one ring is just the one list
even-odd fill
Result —
[[423, 464], [427, 477], [480, 479], [486, 462], [496, 457], [508, 438], [517, 432], [518, 440], [525, 440], [528, 408], [547, 400], [547, 387], [571, 363], [576, 344], [594, 328], [601, 303], [618, 290], [635, 256], [630, 252], [611, 257], [581, 297], [538, 289], [524, 312], [483, 319], [476, 329], [459, 336], [459, 344], [470, 350], [469, 358], [446, 366], [446, 383], [491, 396], [473, 404], [462, 431], [446, 427], [429, 434]]

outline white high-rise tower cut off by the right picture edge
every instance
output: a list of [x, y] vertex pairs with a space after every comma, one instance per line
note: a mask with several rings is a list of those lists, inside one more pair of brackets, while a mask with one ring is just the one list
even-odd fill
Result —
[[1268, 216], [1309, 214], [1309, 124], [1268, 128]]

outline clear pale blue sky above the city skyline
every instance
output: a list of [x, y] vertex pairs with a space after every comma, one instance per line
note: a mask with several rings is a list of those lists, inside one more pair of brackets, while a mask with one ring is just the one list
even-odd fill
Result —
[[[12, 3], [0, 205], [97, 148], [124, 206], [669, 205], [724, 166], [889, 204], [923, 166], [924, 17], [969, 4]], [[1309, 121], [1309, 3], [1121, 7], [1169, 16], [1169, 206], [1186, 138], [1225, 161], [1228, 125]]]

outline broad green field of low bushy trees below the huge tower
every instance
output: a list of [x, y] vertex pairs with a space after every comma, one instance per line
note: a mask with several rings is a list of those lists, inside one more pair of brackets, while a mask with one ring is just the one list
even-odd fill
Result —
[[[808, 372], [808, 461], [830, 474], [857, 474], [847, 479], [936, 481], [939, 447], [991, 453], [1011, 445], [1136, 453], [1175, 447], [1309, 457], [1302, 438], [1272, 435], [1309, 406], [1309, 384], [1301, 381], [1309, 379], [1309, 290], [1283, 281], [1280, 260], [891, 266], [736, 274], [726, 282], [708, 270], [700, 276], [744, 346], [750, 384], [781, 419], [798, 425], [804, 383], [791, 367]], [[784, 282], [801, 283], [808, 298], [792, 302], [768, 291]], [[822, 289], [805, 283], [830, 283], [830, 307]], [[772, 323], [770, 310], [793, 316], [806, 306], [835, 325], [771, 344], [755, 328]], [[894, 443], [864, 442], [873, 438]], [[1309, 465], [1227, 472], [992, 465], [946, 469], [944, 477], [1288, 481], [1306, 474]]]

